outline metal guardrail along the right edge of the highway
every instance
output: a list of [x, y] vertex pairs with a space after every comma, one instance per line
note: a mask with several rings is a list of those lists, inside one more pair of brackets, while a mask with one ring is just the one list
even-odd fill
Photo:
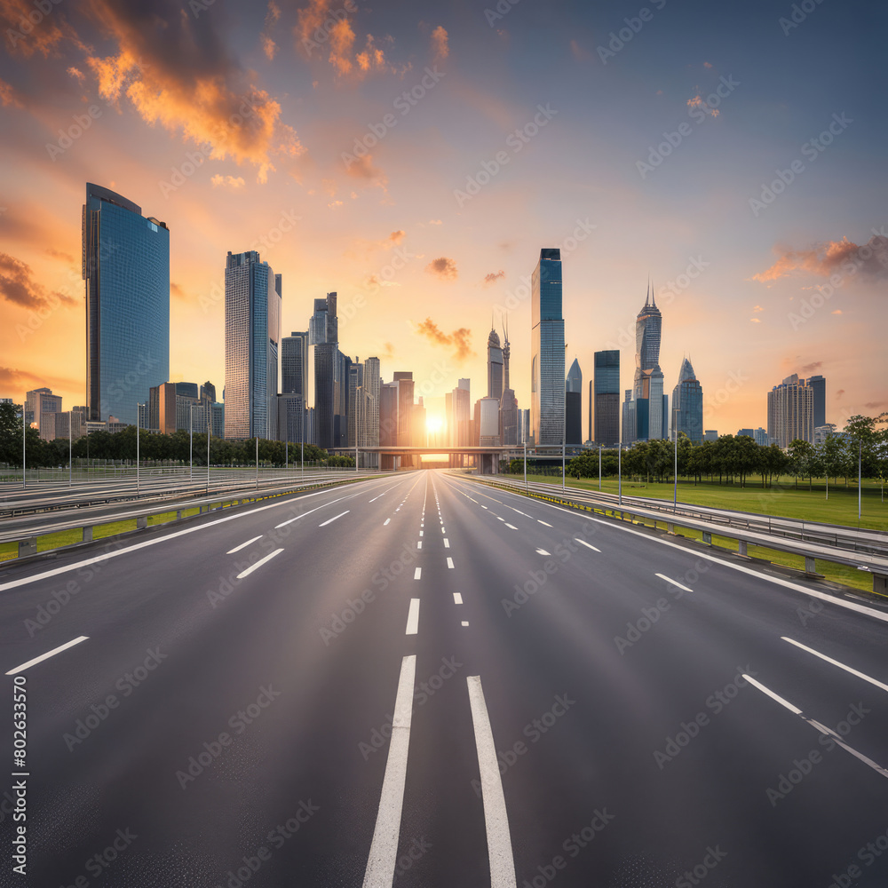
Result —
[[[526, 491], [522, 486], [511, 483], [503, 483], [503, 481], [494, 480], [491, 476], [468, 476], [472, 480], [480, 481], [489, 487], [500, 488], [510, 492], [517, 492], [525, 496], [533, 496], [537, 499], [547, 500], [550, 503], [558, 503], [569, 508], [581, 509], [583, 511], [599, 511], [602, 514], [608, 512], [614, 516], [619, 515], [624, 519], [625, 515], [635, 516], [642, 519], [662, 521], [666, 524], [666, 529], [670, 534], [675, 533], [675, 526], [687, 527], [691, 530], [699, 530], [703, 535], [703, 543], [712, 543], [712, 535], [727, 536], [734, 539], [738, 543], [738, 551], [736, 554], [749, 557], [747, 555], [747, 547], [749, 545], [761, 546], [765, 549], [774, 549], [776, 551], [784, 551], [789, 554], [798, 555], [805, 559], [805, 574], [815, 577], [817, 574], [815, 560], [829, 561], [833, 564], [842, 564], [846, 567], [857, 567], [860, 570], [866, 570], [873, 575], [873, 591], [879, 595], [888, 595], [888, 558], [871, 554], [868, 552], [857, 552], [848, 549], [836, 548], [835, 546], [826, 546], [818, 543], [808, 543], [804, 541], [789, 541], [786, 537], [768, 535], [760, 533], [756, 530], [737, 529], [735, 527], [725, 527], [717, 522], [711, 522], [700, 519], [671, 519], [664, 518], [662, 512], [655, 509], [646, 509], [638, 506], [620, 505], [618, 503], [583, 503], [579, 498], [571, 499], [565, 493], [562, 496], [556, 492], [541, 492], [538, 490]], [[678, 517], [678, 516], [677, 516]]]

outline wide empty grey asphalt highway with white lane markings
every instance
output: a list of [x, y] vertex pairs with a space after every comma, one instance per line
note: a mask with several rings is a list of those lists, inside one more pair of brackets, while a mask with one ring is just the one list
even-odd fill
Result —
[[0, 572], [3, 672], [87, 637], [4, 676], [0, 884], [888, 884], [863, 602], [447, 472], [116, 546]]

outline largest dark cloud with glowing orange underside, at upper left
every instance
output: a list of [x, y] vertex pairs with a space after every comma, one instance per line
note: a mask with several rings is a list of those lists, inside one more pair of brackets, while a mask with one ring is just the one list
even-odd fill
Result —
[[266, 181], [281, 105], [230, 56], [214, 30], [218, 17], [192, 19], [173, 0], [92, 0], [84, 10], [115, 44], [110, 54], [86, 59], [104, 99], [126, 97], [146, 123], [185, 142], [210, 143], [215, 160], [252, 163], [258, 181]]

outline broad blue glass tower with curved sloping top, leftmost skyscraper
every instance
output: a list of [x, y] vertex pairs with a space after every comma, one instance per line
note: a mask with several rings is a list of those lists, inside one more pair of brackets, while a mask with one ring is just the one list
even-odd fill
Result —
[[170, 377], [170, 231], [89, 182], [82, 221], [89, 419], [135, 425], [136, 405]]

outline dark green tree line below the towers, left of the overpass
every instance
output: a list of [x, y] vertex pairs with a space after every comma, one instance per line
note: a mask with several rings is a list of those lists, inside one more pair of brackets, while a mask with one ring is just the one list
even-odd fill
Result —
[[[20, 468], [22, 429], [20, 405], [0, 404], [0, 464]], [[75, 460], [130, 461], [136, 459], [136, 427], [128, 425], [120, 432], [99, 430], [83, 435], [71, 443]], [[194, 432], [194, 440], [188, 432], [178, 431], [170, 435], [152, 434], [139, 429], [139, 461], [141, 463], [187, 464], [194, 453], [194, 465], [207, 464], [207, 434]], [[57, 438], [47, 441], [34, 428], [25, 430], [25, 460], [28, 468], [41, 466], [67, 466], [68, 440]], [[289, 449], [289, 456], [288, 456]], [[302, 445], [292, 442], [259, 439], [259, 463], [266, 465], [298, 464], [302, 457]], [[314, 444], [305, 444], [305, 462], [326, 466], [353, 466], [353, 456], [329, 454]], [[210, 439], [210, 465], [255, 465], [256, 439]]]

